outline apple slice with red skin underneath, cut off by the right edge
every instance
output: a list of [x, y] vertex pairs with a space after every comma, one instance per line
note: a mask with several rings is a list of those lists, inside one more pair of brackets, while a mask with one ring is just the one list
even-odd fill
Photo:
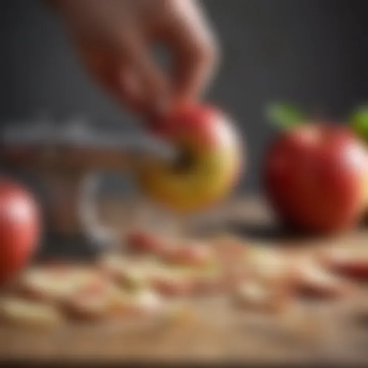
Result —
[[320, 259], [333, 272], [352, 278], [368, 279], [366, 244], [330, 247], [321, 252]]

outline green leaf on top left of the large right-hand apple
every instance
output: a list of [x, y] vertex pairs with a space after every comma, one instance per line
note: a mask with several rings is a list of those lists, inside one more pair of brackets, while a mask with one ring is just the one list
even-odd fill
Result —
[[288, 103], [273, 103], [266, 109], [267, 119], [275, 126], [287, 129], [303, 124], [306, 115], [303, 111]]

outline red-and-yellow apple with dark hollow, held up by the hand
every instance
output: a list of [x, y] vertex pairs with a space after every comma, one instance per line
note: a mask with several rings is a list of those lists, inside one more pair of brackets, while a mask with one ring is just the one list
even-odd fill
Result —
[[178, 213], [193, 213], [228, 194], [242, 172], [243, 147], [232, 122], [211, 106], [186, 105], [151, 124], [152, 132], [190, 157], [184, 168], [152, 162], [139, 173], [151, 199]]

